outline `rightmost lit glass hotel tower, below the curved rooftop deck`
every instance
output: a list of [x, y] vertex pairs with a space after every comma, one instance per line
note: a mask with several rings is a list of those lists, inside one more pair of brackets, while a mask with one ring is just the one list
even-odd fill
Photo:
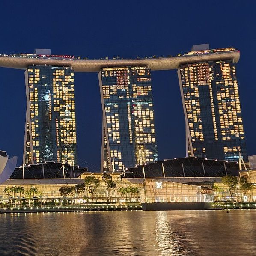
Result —
[[181, 65], [179, 83], [189, 156], [248, 161], [235, 63]]

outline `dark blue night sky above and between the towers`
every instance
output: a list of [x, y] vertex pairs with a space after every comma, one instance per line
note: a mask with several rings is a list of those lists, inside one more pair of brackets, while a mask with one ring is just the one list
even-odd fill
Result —
[[[167, 56], [194, 44], [235, 47], [247, 151], [256, 154], [255, 1], [10, 1], [0, 3], [0, 53], [101, 58]], [[158, 158], [185, 156], [185, 118], [177, 71], [153, 71]], [[96, 73], [75, 74], [79, 164], [99, 170], [101, 101]], [[23, 70], [0, 68], [0, 149], [22, 162]]]

